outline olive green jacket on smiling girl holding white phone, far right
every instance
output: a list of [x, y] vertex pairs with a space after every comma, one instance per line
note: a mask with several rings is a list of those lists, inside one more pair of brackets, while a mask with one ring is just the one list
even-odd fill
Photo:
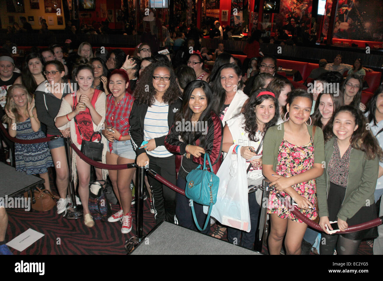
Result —
[[[325, 161], [330, 162], [334, 153], [335, 137], [327, 141], [325, 146]], [[316, 194], [318, 197], [319, 216], [329, 216], [327, 209], [327, 196], [330, 189], [330, 180], [327, 165], [324, 173], [316, 179]], [[372, 205], [376, 180], [378, 179], [379, 159], [367, 160], [365, 153], [352, 148], [350, 151], [350, 168], [347, 179], [346, 194], [337, 217], [343, 221], [352, 218], [363, 206]]]

